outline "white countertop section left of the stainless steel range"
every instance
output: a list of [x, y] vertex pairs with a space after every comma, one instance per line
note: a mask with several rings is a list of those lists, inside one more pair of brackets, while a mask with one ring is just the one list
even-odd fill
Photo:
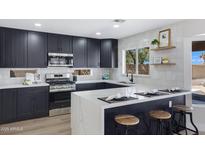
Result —
[[23, 85], [22, 83], [16, 83], [16, 84], [2, 84], [0, 83], [0, 89], [13, 89], [13, 88], [30, 88], [30, 87], [43, 87], [43, 86], [49, 86], [49, 84], [45, 82], [40, 82], [36, 84], [31, 85]]

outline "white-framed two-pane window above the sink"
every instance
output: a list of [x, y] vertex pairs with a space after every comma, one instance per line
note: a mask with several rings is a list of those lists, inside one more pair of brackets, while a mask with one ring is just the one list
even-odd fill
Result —
[[149, 47], [123, 52], [123, 74], [149, 75]]

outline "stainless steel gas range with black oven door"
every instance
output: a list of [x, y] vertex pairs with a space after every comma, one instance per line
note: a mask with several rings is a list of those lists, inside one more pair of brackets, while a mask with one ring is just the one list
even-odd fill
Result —
[[71, 92], [76, 90], [70, 74], [46, 74], [49, 90], [49, 115], [55, 116], [70, 113]]

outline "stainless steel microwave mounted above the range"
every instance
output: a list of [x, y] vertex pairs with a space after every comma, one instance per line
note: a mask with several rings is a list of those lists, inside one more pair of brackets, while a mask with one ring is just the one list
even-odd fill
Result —
[[73, 67], [73, 54], [48, 53], [49, 67]]

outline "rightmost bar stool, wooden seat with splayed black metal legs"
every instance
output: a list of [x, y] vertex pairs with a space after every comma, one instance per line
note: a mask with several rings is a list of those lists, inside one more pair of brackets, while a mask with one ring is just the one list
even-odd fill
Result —
[[[198, 128], [193, 122], [192, 115], [193, 107], [188, 107], [186, 105], [174, 105], [173, 106], [173, 119], [175, 120], [175, 115], [179, 114], [179, 120], [176, 122], [176, 134], [179, 134], [180, 128], [185, 129], [186, 135], [188, 135], [187, 130], [194, 132], [195, 135], [199, 134]], [[186, 115], [189, 115], [190, 122], [195, 130], [186, 127]], [[183, 125], [181, 123], [183, 122]]]

